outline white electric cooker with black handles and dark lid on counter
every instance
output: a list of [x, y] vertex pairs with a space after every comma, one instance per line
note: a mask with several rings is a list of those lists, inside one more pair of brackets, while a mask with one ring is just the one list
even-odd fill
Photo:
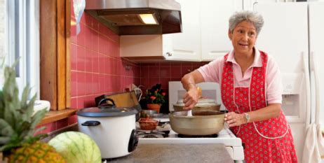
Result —
[[102, 104], [93, 108], [82, 108], [78, 116], [79, 131], [90, 136], [99, 146], [103, 159], [122, 157], [135, 150], [138, 138], [135, 131], [135, 108], [116, 108]]

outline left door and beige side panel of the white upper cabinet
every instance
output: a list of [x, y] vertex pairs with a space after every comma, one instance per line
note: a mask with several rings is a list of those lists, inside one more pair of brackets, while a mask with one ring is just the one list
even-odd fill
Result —
[[182, 33], [121, 36], [121, 57], [137, 60], [201, 61], [200, 6], [198, 0], [181, 0]]

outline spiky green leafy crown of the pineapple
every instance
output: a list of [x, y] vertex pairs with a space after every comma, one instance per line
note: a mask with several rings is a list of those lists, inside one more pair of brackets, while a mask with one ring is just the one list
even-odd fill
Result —
[[[17, 62], [15, 63], [17, 64]], [[18, 85], [15, 81], [15, 64], [4, 69], [4, 87], [0, 90], [0, 152], [10, 153], [25, 143], [34, 143], [46, 134], [34, 136], [44, 127], [34, 130], [45, 116], [46, 109], [34, 115], [36, 94], [28, 101], [30, 88], [27, 85], [18, 97]]]

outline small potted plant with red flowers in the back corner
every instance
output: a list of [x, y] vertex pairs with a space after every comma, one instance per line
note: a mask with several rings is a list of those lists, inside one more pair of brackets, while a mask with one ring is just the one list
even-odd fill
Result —
[[161, 84], [156, 84], [145, 92], [144, 99], [147, 104], [164, 104], [166, 102], [166, 92], [161, 89]]

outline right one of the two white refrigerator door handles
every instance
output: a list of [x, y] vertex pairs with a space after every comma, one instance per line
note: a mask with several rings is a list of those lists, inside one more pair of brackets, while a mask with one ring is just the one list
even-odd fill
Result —
[[313, 72], [314, 74], [314, 84], [315, 84], [315, 123], [319, 124], [320, 122], [320, 92], [319, 92], [319, 79], [318, 79], [318, 66], [317, 66], [317, 62], [316, 62], [316, 54], [315, 52], [311, 52], [310, 54], [310, 67], [311, 67], [311, 72]]

